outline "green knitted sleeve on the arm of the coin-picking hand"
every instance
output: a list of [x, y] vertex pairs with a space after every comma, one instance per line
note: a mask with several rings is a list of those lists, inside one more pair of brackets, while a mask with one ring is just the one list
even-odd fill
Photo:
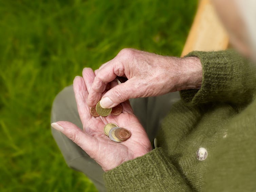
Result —
[[256, 65], [234, 50], [190, 52], [201, 60], [203, 79], [200, 90], [183, 90], [181, 97], [191, 104], [212, 101], [246, 103], [255, 91]]

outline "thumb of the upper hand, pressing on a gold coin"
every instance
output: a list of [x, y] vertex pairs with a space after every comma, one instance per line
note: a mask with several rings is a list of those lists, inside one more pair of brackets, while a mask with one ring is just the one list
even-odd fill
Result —
[[130, 98], [140, 97], [141, 90], [138, 89], [138, 82], [133, 82], [132, 79], [129, 79], [111, 88], [100, 100], [100, 105], [103, 108], [111, 108]]

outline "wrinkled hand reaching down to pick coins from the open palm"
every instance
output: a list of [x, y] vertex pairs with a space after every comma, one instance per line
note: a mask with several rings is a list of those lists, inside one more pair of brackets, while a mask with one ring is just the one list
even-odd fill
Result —
[[[116, 76], [127, 77], [128, 80], [105, 93], [107, 84]], [[103, 108], [111, 108], [130, 98], [197, 89], [201, 81], [202, 66], [197, 57], [177, 58], [123, 49], [99, 68], [87, 102], [92, 107], [101, 99]]]

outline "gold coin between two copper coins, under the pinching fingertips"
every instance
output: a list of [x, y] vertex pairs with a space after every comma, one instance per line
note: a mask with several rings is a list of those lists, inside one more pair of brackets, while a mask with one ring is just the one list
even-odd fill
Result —
[[106, 117], [108, 116], [110, 113], [112, 115], [120, 115], [123, 111], [122, 105], [118, 104], [113, 108], [110, 109], [104, 109], [100, 106], [100, 103], [98, 102], [96, 104], [95, 107], [92, 107], [90, 109], [90, 113], [93, 117], [98, 117], [98, 116], [102, 116], [102, 117]]

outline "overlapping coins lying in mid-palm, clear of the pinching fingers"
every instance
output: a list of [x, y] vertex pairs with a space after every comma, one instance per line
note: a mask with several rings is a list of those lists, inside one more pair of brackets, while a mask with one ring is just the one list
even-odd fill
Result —
[[129, 130], [118, 127], [115, 123], [108, 123], [104, 127], [104, 133], [109, 136], [112, 141], [122, 142], [127, 140], [131, 133]]

